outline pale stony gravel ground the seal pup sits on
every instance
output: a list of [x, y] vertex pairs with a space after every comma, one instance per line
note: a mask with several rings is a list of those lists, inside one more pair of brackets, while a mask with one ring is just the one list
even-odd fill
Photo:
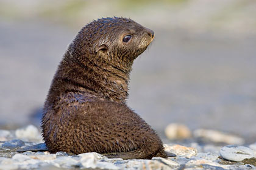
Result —
[[45, 146], [41, 147], [44, 151], [17, 152], [41, 142], [40, 131], [32, 125], [15, 131], [0, 129], [0, 169], [256, 169], [256, 143], [248, 147], [169, 143], [163, 146], [171, 157], [151, 160], [107, 158], [96, 152], [50, 154]]

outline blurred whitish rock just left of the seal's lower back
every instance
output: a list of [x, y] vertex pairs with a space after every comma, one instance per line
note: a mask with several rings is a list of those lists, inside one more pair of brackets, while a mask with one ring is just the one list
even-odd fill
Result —
[[30, 124], [27, 127], [17, 129], [15, 131], [15, 135], [17, 138], [21, 138], [23, 140], [29, 141], [38, 141], [43, 143], [43, 138], [41, 137], [41, 133], [38, 131], [37, 127]]

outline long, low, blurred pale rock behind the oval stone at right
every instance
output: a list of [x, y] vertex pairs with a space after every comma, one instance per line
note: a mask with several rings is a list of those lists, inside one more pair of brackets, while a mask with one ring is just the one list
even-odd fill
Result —
[[227, 143], [227, 144], [243, 144], [244, 139], [236, 137], [235, 135], [226, 134], [224, 132], [197, 129], [193, 132], [194, 137], [202, 138], [203, 140], [213, 141], [215, 143]]

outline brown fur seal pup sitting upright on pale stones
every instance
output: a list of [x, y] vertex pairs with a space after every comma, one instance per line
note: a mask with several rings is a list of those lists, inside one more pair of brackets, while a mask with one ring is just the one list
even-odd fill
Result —
[[101, 18], [69, 45], [44, 103], [48, 151], [123, 159], [166, 157], [155, 131], [126, 104], [133, 60], [154, 32], [131, 19]]

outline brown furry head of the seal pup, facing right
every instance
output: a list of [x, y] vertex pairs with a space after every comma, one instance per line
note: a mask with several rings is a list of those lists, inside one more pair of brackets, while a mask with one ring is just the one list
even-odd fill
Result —
[[132, 63], [153, 39], [152, 30], [132, 19], [101, 18], [80, 30], [72, 49], [79, 50], [80, 55], [90, 53], [108, 61], [119, 59]]

